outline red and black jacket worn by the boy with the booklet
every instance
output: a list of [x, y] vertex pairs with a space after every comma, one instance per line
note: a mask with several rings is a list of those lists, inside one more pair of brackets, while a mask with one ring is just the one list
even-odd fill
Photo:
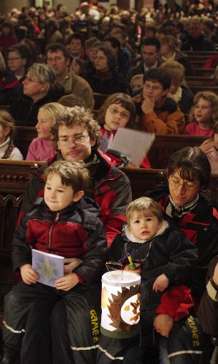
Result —
[[33, 208], [22, 216], [14, 235], [14, 270], [31, 264], [31, 249], [83, 259], [73, 272], [87, 283], [100, 279], [108, 249], [98, 205], [90, 198], [81, 198], [53, 212], [43, 198], [37, 198]]

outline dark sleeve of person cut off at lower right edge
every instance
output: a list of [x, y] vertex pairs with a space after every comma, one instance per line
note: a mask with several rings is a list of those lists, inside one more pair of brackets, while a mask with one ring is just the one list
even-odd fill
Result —
[[[214, 257], [214, 259], [212, 259], [212, 261], [209, 263], [206, 284], [209, 282], [209, 279], [212, 278], [214, 274], [214, 268], [217, 265], [217, 262], [218, 256]], [[215, 289], [217, 289], [218, 291], [218, 287], [215, 287]], [[209, 291], [207, 291], [207, 289], [205, 289], [204, 291], [197, 314], [199, 316], [199, 321], [202, 325], [204, 332], [212, 336], [218, 336], [218, 299], [215, 300], [209, 294]]]

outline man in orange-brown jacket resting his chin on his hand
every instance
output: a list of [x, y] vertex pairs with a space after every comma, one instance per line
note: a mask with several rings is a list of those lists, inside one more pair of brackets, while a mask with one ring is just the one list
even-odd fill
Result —
[[140, 128], [156, 134], [182, 134], [185, 116], [169, 95], [171, 77], [160, 68], [147, 70], [142, 93], [135, 96]]

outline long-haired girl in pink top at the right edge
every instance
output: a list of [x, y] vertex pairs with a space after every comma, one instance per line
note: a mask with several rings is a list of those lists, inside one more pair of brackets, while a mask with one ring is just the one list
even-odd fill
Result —
[[218, 96], [211, 91], [197, 92], [190, 112], [190, 123], [183, 134], [211, 137], [218, 120]]

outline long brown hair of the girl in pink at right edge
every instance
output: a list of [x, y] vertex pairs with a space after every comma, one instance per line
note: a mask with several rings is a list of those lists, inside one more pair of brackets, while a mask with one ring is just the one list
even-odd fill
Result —
[[214, 92], [211, 91], [200, 91], [197, 92], [197, 94], [194, 96], [192, 109], [190, 111], [190, 118], [189, 122], [193, 122], [194, 120], [194, 107], [196, 106], [197, 102], [199, 102], [200, 99], [204, 99], [210, 102], [211, 109], [212, 109], [212, 124], [217, 122], [218, 120], [218, 96], [214, 94]]

